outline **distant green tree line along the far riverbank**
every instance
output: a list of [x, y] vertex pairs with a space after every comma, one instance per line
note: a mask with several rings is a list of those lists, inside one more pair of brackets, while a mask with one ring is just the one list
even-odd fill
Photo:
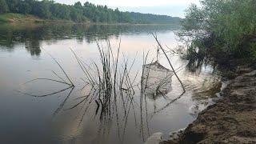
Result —
[[178, 23], [180, 18], [164, 15], [121, 12], [90, 2], [74, 5], [55, 3], [50, 0], [0, 0], [0, 14], [32, 14], [45, 19], [64, 19], [74, 22], [122, 22], [122, 23]]

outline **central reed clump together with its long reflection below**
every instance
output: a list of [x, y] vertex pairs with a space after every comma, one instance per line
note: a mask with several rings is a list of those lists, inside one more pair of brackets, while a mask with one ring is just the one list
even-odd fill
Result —
[[[82, 59], [78, 58], [78, 55], [71, 50], [79, 67], [85, 74], [86, 80], [83, 81], [87, 81], [89, 83], [87, 86], [90, 86], [91, 89], [90, 94], [77, 98], [79, 102], [70, 107], [70, 109], [79, 105], [85, 106], [83, 108], [84, 113], [79, 122], [80, 125], [86, 110], [93, 104], [91, 102], [95, 102], [95, 116], [98, 115], [102, 122], [115, 120], [118, 138], [122, 142], [126, 134], [127, 120], [130, 112], [134, 112], [135, 122], [137, 123], [136, 108], [134, 106], [134, 82], [138, 76], [138, 71], [133, 78], [130, 78], [130, 71], [134, 66], [136, 58], [130, 63], [123, 56], [123, 61], [121, 61], [120, 42], [115, 53], [110, 46], [110, 42], [107, 43], [107, 47], [100, 46], [99, 43], [97, 43], [97, 46], [100, 63], [92, 62], [91, 67], [82, 62]], [[99, 132], [105, 133], [105, 128], [101, 127]]]

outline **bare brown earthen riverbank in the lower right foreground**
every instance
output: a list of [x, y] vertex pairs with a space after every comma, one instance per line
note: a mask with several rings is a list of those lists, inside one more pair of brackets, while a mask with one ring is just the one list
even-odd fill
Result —
[[256, 142], [256, 70], [243, 68], [230, 79], [214, 105], [198, 118], [173, 143], [254, 143]]

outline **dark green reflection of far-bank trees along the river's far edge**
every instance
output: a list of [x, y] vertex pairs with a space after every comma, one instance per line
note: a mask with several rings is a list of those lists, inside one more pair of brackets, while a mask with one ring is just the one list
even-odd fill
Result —
[[95, 42], [118, 38], [120, 34], [148, 34], [150, 32], [177, 30], [178, 26], [157, 25], [74, 25], [74, 24], [47, 24], [47, 25], [2, 25], [0, 26], [0, 46], [8, 50], [14, 49], [15, 42], [25, 43], [26, 50], [31, 55], [40, 55], [40, 41], [76, 38], [78, 42]]

